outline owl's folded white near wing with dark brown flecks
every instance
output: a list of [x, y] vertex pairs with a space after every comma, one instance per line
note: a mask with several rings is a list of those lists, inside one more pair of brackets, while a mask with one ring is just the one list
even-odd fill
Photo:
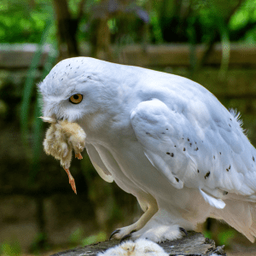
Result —
[[153, 99], [131, 112], [131, 125], [148, 160], [175, 188], [199, 189], [217, 208], [225, 206], [229, 192], [253, 200], [255, 149], [231, 113], [225, 110], [226, 116], [215, 120], [204, 119], [203, 113], [200, 108], [196, 113], [173, 110]]

